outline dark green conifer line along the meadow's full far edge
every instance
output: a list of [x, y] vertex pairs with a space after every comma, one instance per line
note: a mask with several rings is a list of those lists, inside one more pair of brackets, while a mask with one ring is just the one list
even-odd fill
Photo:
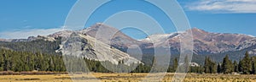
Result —
[[[72, 57], [72, 56], [71, 56]], [[63, 61], [62, 55], [45, 54], [41, 52], [17, 52], [9, 49], [0, 49], [0, 71], [50, 71], [50, 72], [67, 72], [71, 70], [73, 72], [98, 72], [98, 73], [111, 73], [112, 71], [105, 68], [103, 64], [110, 67], [115, 67], [111, 70], [118, 72], [131, 72], [131, 73], [148, 73], [154, 63], [145, 64], [131, 64], [130, 66], [137, 66], [137, 68], [128, 68], [122, 61], [118, 64], [113, 64], [108, 61], [99, 62], [93, 59], [87, 59], [85, 57], [73, 57], [71, 61]], [[65, 58], [64, 58], [65, 59]], [[79, 63], [84, 61], [84, 63]], [[167, 72], [176, 72], [178, 66], [178, 58], [174, 58], [172, 65], [167, 69]], [[186, 59], [184, 59], [186, 61]], [[65, 66], [69, 64], [67, 66]], [[187, 62], [185, 62], [187, 63]], [[87, 68], [83, 68], [86, 65]], [[189, 73], [206, 73], [206, 74], [256, 74], [256, 57], [250, 57], [248, 52], [241, 58], [240, 61], [232, 61], [229, 56], [226, 55], [222, 63], [216, 63], [212, 61], [210, 57], [205, 58], [205, 62], [201, 66], [190, 66], [186, 69]]]

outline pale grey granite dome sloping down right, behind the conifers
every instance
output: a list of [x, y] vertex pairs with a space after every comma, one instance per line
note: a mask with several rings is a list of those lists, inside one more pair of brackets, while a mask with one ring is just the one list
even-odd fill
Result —
[[82, 56], [97, 61], [109, 61], [115, 64], [121, 61], [126, 65], [141, 63], [136, 58], [130, 57], [127, 53], [112, 48], [101, 41], [96, 41], [91, 36], [74, 32], [67, 41], [63, 42], [61, 52], [64, 55]]

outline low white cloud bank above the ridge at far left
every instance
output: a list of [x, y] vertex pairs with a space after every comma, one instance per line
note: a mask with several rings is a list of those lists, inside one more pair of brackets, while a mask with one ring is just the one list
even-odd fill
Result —
[[15, 30], [0, 32], [0, 38], [4, 39], [25, 39], [28, 36], [48, 36], [55, 32], [63, 30], [62, 28], [54, 29], [31, 29], [31, 30]]

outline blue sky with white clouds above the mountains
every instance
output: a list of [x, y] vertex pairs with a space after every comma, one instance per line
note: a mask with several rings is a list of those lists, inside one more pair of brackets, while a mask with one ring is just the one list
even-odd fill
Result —
[[[1, 0], [0, 38], [47, 36], [61, 31], [69, 11], [76, 2], [76, 0]], [[256, 0], [177, 0], [177, 2], [187, 15], [191, 27], [210, 32], [256, 36]], [[113, 0], [102, 5], [90, 16], [84, 28], [104, 22], [109, 16], [124, 10], [137, 10], [148, 14], [159, 22], [166, 33], [177, 31], [172, 25], [172, 20], [167, 19], [160, 8], [142, 0]], [[147, 36], [141, 30], [122, 31], [135, 39]]]

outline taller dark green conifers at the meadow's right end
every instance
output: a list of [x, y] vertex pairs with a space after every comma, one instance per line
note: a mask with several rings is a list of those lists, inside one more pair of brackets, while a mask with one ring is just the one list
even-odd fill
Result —
[[256, 74], [256, 56], [250, 57], [248, 52], [239, 60], [232, 61], [229, 55], [223, 58], [222, 63], [215, 63], [210, 57], [205, 58], [201, 67], [190, 67], [189, 72], [206, 74]]

